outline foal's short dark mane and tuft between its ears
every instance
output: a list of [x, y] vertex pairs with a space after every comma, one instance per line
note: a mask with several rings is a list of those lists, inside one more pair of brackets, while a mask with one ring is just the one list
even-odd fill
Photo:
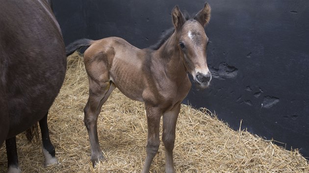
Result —
[[[188, 20], [193, 20], [193, 18], [195, 17], [195, 15], [192, 15], [190, 16], [188, 14], [187, 11], [184, 11], [183, 12], [183, 17], [186, 21]], [[153, 49], [153, 50], [158, 50], [171, 36], [172, 34], [175, 32], [175, 28], [174, 27], [171, 27], [167, 30], [165, 30], [162, 35], [160, 36], [160, 39], [157, 43], [149, 46], [150, 49]]]

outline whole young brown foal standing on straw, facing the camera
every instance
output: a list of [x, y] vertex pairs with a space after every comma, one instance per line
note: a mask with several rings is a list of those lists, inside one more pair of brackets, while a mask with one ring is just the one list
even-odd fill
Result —
[[187, 72], [197, 86], [206, 88], [211, 74], [206, 63], [208, 38], [204, 26], [210, 19], [210, 7], [193, 18], [185, 19], [178, 6], [172, 11], [174, 29], [155, 46], [138, 49], [117, 37], [98, 41], [78, 40], [67, 46], [67, 55], [82, 46], [89, 78], [89, 98], [84, 108], [93, 165], [103, 154], [100, 148], [97, 121], [103, 103], [116, 87], [133, 100], [145, 103], [148, 140], [143, 173], [148, 173], [157, 153], [160, 118], [163, 116], [162, 141], [165, 147], [165, 172], [174, 173], [173, 149], [181, 101], [191, 87]]

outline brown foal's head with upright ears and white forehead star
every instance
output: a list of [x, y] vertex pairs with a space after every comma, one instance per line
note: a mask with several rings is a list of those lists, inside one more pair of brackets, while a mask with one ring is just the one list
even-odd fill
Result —
[[210, 6], [205, 3], [204, 8], [189, 20], [183, 17], [176, 6], [172, 11], [172, 17], [182, 61], [197, 86], [204, 89], [211, 80], [206, 63], [208, 38], [204, 30], [204, 26], [210, 20]]

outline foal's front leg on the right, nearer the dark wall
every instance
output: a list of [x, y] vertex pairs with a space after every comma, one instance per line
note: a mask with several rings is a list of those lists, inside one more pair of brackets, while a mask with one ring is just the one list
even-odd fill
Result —
[[165, 173], [175, 173], [173, 150], [175, 144], [175, 131], [177, 118], [180, 111], [180, 104], [171, 111], [163, 114], [162, 141], [165, 148]]

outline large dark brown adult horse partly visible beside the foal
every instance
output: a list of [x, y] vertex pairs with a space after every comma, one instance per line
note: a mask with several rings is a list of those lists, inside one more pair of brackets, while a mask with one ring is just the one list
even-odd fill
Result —
[[47, 0], [0, 0], [0, 146], [21, 172], [15, 136], [39, 121], [46, 164], [57, 163], [47, 114], [66, 71], [60, 27]]

